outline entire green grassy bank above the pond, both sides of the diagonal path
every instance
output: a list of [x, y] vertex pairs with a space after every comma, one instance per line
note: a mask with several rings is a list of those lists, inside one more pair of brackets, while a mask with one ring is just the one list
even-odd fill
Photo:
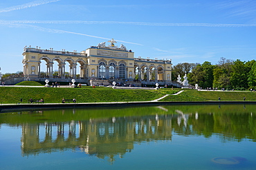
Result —
[[[39, 100], [44, 98], [44, 103], [61, 103], [62, 98], [76, 98], [77, 103], [100, 103], [100, 102], [129, 102], [149, 101], [174, 94], [181, 89], [112, 89], [106, 87], [85, 88], [56, 88], [56, 87], [0, 87], [0, 104], [28, 103], [28, 99]], [[209, 100], [256, 100], [256, 92], [205, 92], [185, 90], [179, 95], [170, 95], [161, 101], [209, 101]]]

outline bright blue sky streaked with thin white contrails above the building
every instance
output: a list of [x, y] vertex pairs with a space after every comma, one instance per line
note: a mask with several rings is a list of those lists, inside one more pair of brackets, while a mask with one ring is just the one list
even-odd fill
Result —
[[81, 52], [110, 39], [174, 65], [250, 61], [255, 33], [255, 0], [0, 1], [0, 72], [23, 71], [25, 45]]

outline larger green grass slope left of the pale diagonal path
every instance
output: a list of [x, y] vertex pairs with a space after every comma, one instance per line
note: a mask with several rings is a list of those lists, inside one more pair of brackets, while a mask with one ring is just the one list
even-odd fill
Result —
[[28, 99], [44, 103], [61, 103], [62, 98], [75, 98], [78, 103], [149, 101], [165, 94], [174, 94], [179, 89], [112, 89], [107, 87], [59, 88], [59, 87], [0, 87], [0, 103], [28, 103]]

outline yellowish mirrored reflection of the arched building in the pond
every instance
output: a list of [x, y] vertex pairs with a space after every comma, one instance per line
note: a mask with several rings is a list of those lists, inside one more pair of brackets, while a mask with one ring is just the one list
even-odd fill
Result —
[[[73, 112], [74, 113], [74, 112]], [[98, 158], [122, 158], [134, 142], [172, 140], [172, 119], [188, 120], [186, 114], [113, 117], [65, 123], [22, 124], [22, 156], [55, 151], [83, 151]], [[185, 120], [186, 119], [186, 120]]]

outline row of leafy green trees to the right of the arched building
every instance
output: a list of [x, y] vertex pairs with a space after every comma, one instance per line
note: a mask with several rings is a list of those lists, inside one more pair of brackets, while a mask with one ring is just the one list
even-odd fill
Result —
[[256, 62], [232, 61], [221, 57], [216, 65], [209, 61], [199, 63], [179, 63], [173, 67], [174, 81], [180, 74], [188, 74], [191, 85], [199, 87], [214, 87], [218, 89], [255, 89], [256, 86]]

